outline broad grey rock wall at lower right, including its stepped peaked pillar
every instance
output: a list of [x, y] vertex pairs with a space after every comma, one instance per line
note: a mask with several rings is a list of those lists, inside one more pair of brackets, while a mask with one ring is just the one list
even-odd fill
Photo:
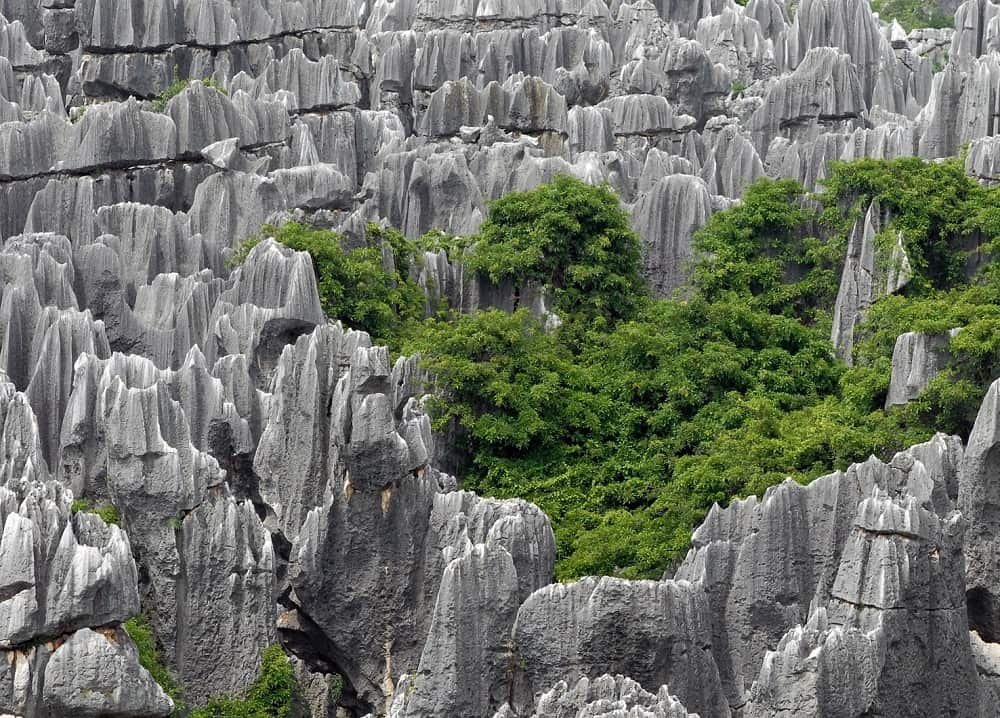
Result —
[[[759, 716], [918, 715], [924, 706], [978, 715], [993, 705], [978, 698], [965, 636], [967, 522], [954, 507], [966, 465], [961, 442], [938, 435], [889, 464], [873, 458], [713, 509], [677, 577], [707, 591], [734, 705], [749, 697]], [[942, 652], [955, 688], [913, 704], [895, 671], [936, 674], [944, 667], [932, 656]]]

